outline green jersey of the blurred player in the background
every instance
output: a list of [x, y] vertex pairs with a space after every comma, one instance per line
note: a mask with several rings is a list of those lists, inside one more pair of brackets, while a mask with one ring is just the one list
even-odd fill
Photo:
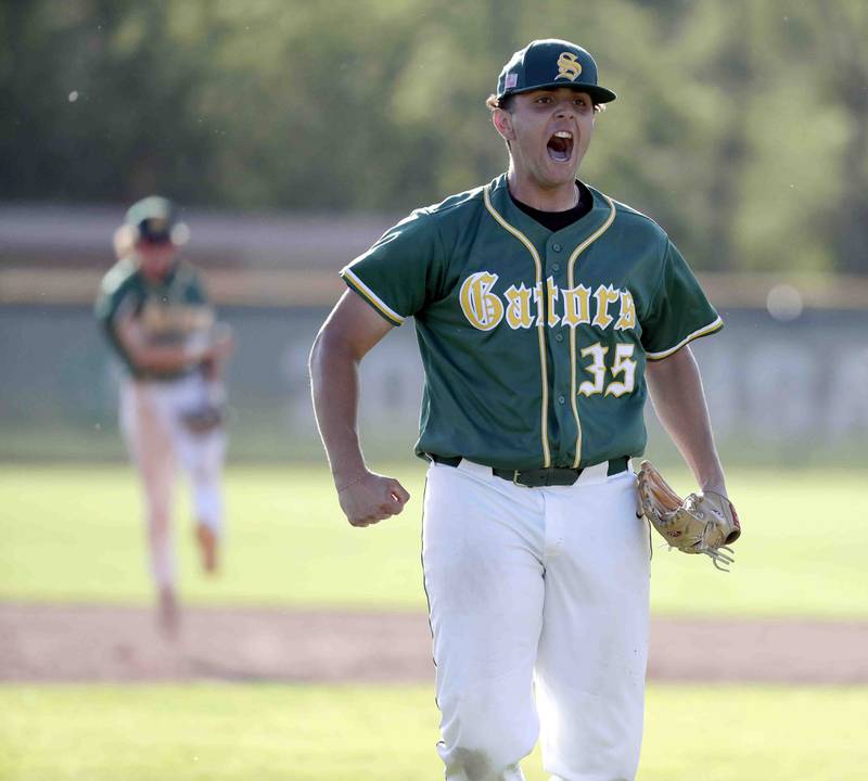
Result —
[[189, 373], [196, 364], [170, 373], [138, 368], [117, 335], [122, 318], [136, 318], [145, 340], [154, 345], [189, 344], [214, 324], [214, 310], [202, 281], [195, 269], [183, 261], [177, 263], [165, 279], [152, 282], [139, 270], [135, 258], [118, 260], [102, 280], [95, 313], [115, 353], [141, 380], [171, 380]]

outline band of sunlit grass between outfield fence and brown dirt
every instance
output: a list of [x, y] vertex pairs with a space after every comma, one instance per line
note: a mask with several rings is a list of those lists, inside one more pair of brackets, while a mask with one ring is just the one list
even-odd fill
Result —
[[[227, 566], [216, 581], [199, 574], [182, 496], [177, 533], [184, 598], [423, 609], [424, 465], [381, 471], [396, 474], [412, 501], [396, 518], [354, 529], [322, 468], [230, 470]], [[655, 537], [654, 611], [868, 616], [856, 543], [868, 524], [863, 481], [856, 471], [731, 472], [744, 526], [732, 572], [667, 551]], [[675, 486], [690, 489], [684, 474]], [[138, 489], [126, 466], [1, 466], [0, 539], [0, 599], [150, 600]]]

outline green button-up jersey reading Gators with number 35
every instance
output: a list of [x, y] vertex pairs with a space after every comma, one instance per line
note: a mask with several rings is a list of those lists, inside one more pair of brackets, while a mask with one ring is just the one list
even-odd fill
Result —
[[644, 367], [723, 321], [666, 233], [592, 190], [551, 232], [502, 175], [417, 209], [342, 272], [394, 325], [416, 319], [417, 453], [579, 468], [644, 450]]

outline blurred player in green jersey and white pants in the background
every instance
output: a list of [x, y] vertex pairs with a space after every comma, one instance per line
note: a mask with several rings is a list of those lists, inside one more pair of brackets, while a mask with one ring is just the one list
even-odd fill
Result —
[[159, 626], [178, 628], [170, 511], [176, 463], [192, 487], [202, 566], [217, 572], [226, 452], [221, 367], [232, 349], [196, 271], [178, 259], [187, 227], [157, 196], [133, 204], [115, 232], [117, 264], [105, 274], [97, 318], [126, 372], [120, 427], [139, 473]]

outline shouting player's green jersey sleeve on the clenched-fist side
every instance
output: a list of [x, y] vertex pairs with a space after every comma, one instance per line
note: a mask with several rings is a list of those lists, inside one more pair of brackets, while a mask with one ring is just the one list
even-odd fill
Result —
[[443, 263], [435, 219], [419, 209], [390, 228], [341, 277], [381, 317], [400, 325], [436, 296]]

